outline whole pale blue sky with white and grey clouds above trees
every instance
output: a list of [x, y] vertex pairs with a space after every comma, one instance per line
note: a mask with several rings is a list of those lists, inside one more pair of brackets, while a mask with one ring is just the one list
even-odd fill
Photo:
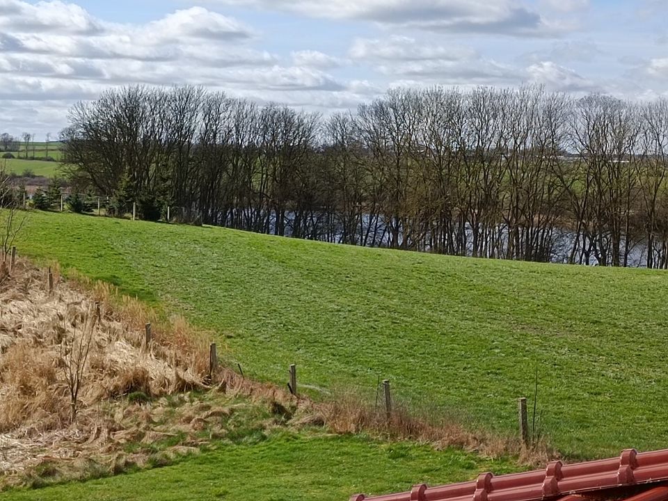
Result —
[[0, 0], [0, 132], [56, 136], [131, 84], [324, 114], [434, 84], [652, 99], [667, 18], [665, 0]]

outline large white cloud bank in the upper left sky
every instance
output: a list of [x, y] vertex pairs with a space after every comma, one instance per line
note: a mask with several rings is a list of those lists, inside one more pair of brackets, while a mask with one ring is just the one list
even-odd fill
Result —
[[15, 111], [24, 111], [26, 102], [66, 103], [60, 113], [51, 114], [58, 117], [55, 128], [60, 129], [69, 106], [110, 86], [250, 88], [257, 67], [269, 68], [277, 86], [335, 88], [331, 77], [276, 69], [278, 56], [249, 46], [257, 40], [253, 29], [202, 7], [176, 10], [145, 24], [106, 22], [58, 0], [0, 0], [0, 12], [0, 97], [3, 119], [12, 127], [30, 128], [45, 120]]

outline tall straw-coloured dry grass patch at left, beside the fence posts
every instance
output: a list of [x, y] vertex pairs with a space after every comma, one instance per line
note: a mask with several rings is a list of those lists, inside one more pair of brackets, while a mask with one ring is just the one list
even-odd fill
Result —
[[[72, 287], [56, 265], [51, 273], [55, 287], [50, 293], [47, 271], [26, 260], [18, 260], [12, 276], [0, 281], [0, 432], [29, 434], [65, 426], [70, 397], [63, 353], [88, 328], [93, 331], [79, 394], [82, 424], [95, 419], [88, 410], [104, 399], [138, 391], [159, 397], [204, 387], [207, 345], [183, 319], [164, 321], [102, 283], [79, 281]], [[100, 302], [99, 320], [95, 301]], [[153, 332], [148, 350], [142, 349], [147, 322]]]

